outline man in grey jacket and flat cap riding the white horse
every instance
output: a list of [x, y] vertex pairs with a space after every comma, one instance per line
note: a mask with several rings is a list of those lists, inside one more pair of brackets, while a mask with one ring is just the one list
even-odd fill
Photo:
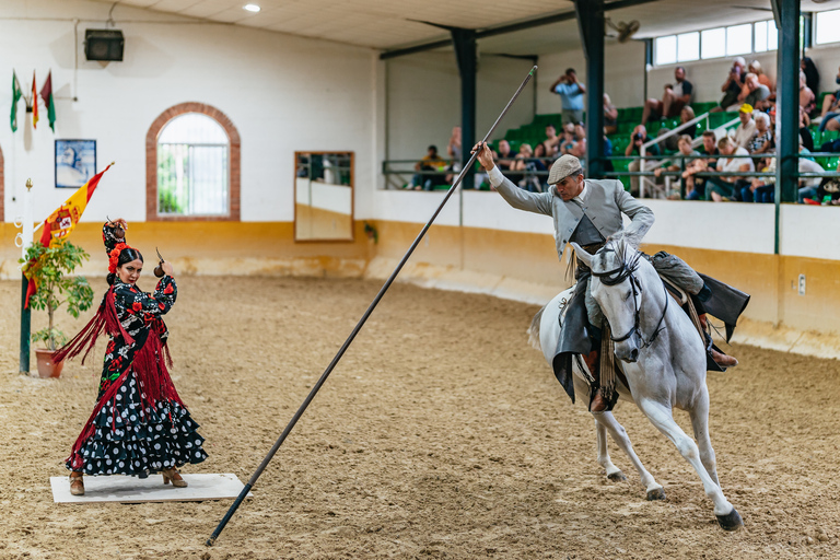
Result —
[[[487, 171], [490, 183], [509, 205], [520, 210], [551, 215], [555, 219], [555, 243], [558, 257], [561, 259], [563, 250], [570, 242], [575, 242], [587, 253], [594, 254], [604, 246], [608, 237], [619, 232], [623, 232], [627, 238], [632, 240], [638, 245], [653, 225], [653, 211], [627, 192], [621, 182], [616, 179], [584, 179], [581, 162], [574, 155], [563, 155], [551, 165], [548, 175], [548, 191], [528, 192], [516, 187], [502, 175], [502, 172], [493, 163], [492, 152], [486, 143], [483, 145], [481, 143], [476, 144], [472, 152], [476, 151], [479, 151], [478, 161]], [[623, 228], [622, 213], [631, 219], [627, 229]], [[682, 269], [687, 269], [688, 275], [693, 275], [697, 278], [696, 282], [682, 282], [679, 288], [690, 295], [697, 307], [699, 319], [705, 327], [705, 310], [701, 300], [708, 300], [712, 290], [681, 260], [667, 254], [663, 255], [665, 258], [660, 258], [661, 262], [667, 260], [673, 265], [678, 261]], [[652, 259], [652, 264], [658, 270], [656, 258]], [[553, 370], [558, 381], [574, 400], [571, 360], [575, 354], [583, 357], [592, 375], [590, 380], [592, 389], [590, 410], [599, 412], [611, 409], [616, 400], [615, 392], [607, 392], [602, 388], [599, 375], [602, 371], [603, 330], [608, 328], [608, 325], [604, 324], [604, 315], [590, 293], [591, 271], [588, 267], [580, 259], [576, 259], [576, 265], [578, 288], [567, 307], [563, 328], [553, 360]], [[664, 271], [661, 273], [665, 276]], [[716, 283], [716, 285], [726, 288], [725, 284], [721, 283]], [[746, 303], [743, 305], [746, 306]], [[742, 311], [743, 307], [737, 310], [737, 314], [740, 314]], [[718, 365], [723, 368], [737, 365], [738, 361], [735, 358], [720, 352], [711, 345], [711, 341], [707, 348]], [[611, 363], [608, 368], [611, 371]]]

